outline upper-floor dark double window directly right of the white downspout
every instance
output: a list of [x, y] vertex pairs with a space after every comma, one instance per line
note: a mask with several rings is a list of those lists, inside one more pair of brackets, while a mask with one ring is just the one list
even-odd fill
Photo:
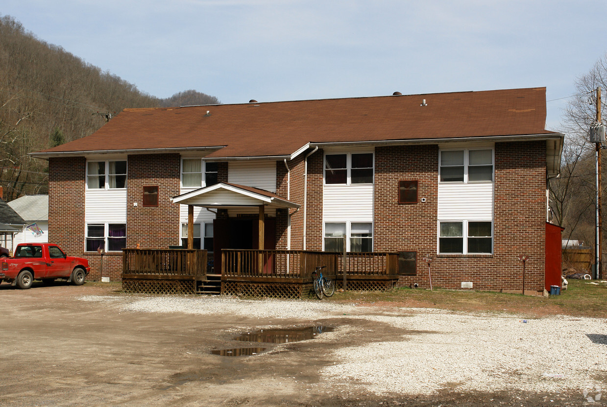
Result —
[[372, 184], [373, 153], [325, 155], [325, 184]]

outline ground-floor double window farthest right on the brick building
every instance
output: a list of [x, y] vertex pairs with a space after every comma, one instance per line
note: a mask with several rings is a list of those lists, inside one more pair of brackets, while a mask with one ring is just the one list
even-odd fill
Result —
[[439, 254], [492, 254], [491, 221], [440, 221]]

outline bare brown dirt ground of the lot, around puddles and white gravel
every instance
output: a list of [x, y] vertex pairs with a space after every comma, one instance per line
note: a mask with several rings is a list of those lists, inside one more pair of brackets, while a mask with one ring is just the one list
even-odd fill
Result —
[[[254, 330], [272, 321], [227, 314], [209, 318], [117, 312], [109, 303], [79, 299], [124, 295], [115, 292], [117, 288], [36, 283], [18, 290], [0, 284], [0, 406], [588, 405], [577, 392], [453, 390], [432, 396], [377, 396], [355, 385], [327, 389], [320, 385], [318, 372], [333, 365], [331, 349], [390, 340], [398, 334], [395, 328], [343, 315], [314, 321], [359, 328], [338, 344], [307, 340], [255, 357], [221, 357], [210, 352], [239, 346], [232, 341], [235, 325]], [[281, 324], [304, 326], [310, 321]]]

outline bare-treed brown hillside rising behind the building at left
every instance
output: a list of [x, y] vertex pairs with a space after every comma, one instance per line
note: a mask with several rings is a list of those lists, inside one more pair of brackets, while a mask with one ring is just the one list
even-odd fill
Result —
[[126, 107], [217, 104], [195, 90], [148, 95], [0, 16], [0, 186], [4, 200], [46, 193], [47, 162], [27, 153], [90, 135]]

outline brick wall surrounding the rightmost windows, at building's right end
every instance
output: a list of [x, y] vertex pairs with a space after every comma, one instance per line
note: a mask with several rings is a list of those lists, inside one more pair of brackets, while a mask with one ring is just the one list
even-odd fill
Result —
[[[461, 289], [472, 281], [476, 290], [521, 291], [544, 288], [544, 224], [546, 220], [546, 144], [543, 141], [495, 144], [493, 255], [436, 255], [438, 147], [377, 147], [375, 150], [375, 251], [418, 252], [417, 275], [401, 277], [399, 286]], [[419, 180], [419, 198], [426, 203], [398, 204], [398, 181]]]

